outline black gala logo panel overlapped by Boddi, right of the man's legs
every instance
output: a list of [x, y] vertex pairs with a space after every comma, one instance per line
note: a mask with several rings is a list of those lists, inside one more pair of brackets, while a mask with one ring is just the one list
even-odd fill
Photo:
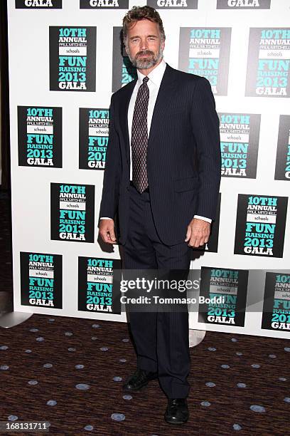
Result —
[[198, 322], [243, 327], [248, 271], [202, 266]]

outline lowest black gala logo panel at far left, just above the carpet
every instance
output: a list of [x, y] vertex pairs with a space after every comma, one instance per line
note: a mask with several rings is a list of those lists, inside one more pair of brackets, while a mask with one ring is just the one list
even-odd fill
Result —
[[21, 304], [63, 308], [62, 256], [60, 254], [20, 253]]

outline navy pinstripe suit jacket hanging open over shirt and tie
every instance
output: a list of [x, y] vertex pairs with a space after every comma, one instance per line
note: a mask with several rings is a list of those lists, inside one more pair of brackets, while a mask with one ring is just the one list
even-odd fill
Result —
[[[112, 95], [100, 217], [118, 212], [119, 243], [129, 222], [128, 107], [136, 80]], [[206, 78], [166, 65], [151, 120], [147, 174], [163, 244], [184, 242], [193, 215], [215, 219], [220, 187], [219, 119]]]

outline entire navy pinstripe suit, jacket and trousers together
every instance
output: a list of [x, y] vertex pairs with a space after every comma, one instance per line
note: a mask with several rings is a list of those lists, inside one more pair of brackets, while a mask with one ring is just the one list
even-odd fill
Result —
[[[180, 269], [193, 215], [215, 219], [220, 187], [220, 133], [210, 83], [166, 66], [147, 148], [149, 192], [129, 184], [127, 113], [136, 81], [112, 95], [109, 142], [99, 217], [119, 217], [124, 269]], [[138, 365], [158, 371], [168, 398], [188, 395], [188, 312], [130, 312]]]

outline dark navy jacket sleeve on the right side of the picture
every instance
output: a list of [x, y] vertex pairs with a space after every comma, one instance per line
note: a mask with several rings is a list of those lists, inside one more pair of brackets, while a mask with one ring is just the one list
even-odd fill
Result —
[[198, 159], [198, 204], [195, 214], [215, 219], [220, 190], [220, 120], [210, 82], [200, 77], [193, 91], [191, 124]]

